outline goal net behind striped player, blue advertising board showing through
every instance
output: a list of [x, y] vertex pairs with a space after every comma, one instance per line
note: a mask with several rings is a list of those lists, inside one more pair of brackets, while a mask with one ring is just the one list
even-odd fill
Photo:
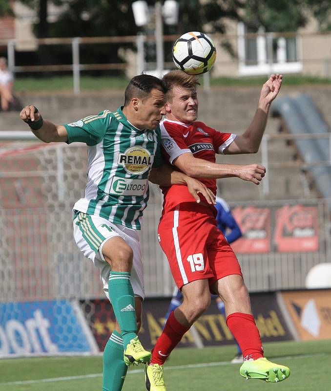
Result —
[[[99, 351], [92, 334], [102, 283], [72, 235], [86, 165], [84, 144], [0, 141], [0, 356]], [[145, 292], [170, 296], [157, 239], [161, 194], [154, 186], [150, 194], [141, 232]]]

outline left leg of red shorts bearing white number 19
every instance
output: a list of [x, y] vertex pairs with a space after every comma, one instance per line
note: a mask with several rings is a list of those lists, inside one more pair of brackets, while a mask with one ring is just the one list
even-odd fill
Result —
[[175, 210], [166, 213], [159, 224], [160, 245], [179, 288], [213, 276], [206, 248], [208, 228], [200, 222], [197, 227], [197, 220], [196, 213]]

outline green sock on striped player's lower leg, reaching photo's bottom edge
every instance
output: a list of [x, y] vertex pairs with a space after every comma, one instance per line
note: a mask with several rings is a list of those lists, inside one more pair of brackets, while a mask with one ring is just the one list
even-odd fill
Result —
[[103, 350], [103, 391], [121, 391], [127, 371], [123, 360], [123, 339], [116, 330]]

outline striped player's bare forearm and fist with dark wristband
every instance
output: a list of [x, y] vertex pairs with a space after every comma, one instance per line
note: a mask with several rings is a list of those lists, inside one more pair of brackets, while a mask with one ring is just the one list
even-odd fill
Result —
[[68, 141], [68, 133], [65, 127], [44, 120], [35, 106], [25, 106], [21, 110], [20, 117], [41, 141], [45, 143]]

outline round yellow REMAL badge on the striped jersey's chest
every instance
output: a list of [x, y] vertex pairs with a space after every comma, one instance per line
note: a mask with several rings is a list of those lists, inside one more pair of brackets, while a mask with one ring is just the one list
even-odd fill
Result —
[[129, 174], [143, 174], [153, 164], [154, 155], [139, 145], [128, 148], [124, 153], [119, 153], [117, 164], [124, 167]]

